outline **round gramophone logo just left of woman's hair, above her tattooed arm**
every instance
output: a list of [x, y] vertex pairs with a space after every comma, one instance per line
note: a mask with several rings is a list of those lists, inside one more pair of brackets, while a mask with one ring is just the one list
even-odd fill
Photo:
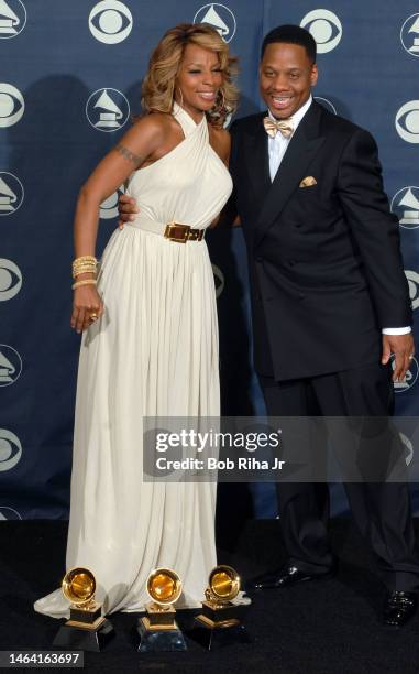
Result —
[[118, 89], [98, 89], [86, 104], [86, 116], [97, 131], [118, 131], [130, 117], [130, 104]]

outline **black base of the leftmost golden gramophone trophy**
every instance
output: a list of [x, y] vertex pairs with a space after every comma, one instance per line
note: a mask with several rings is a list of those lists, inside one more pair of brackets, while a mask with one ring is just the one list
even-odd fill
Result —
[[107, 618], [100, 618], [96, 624], [79, 627], [80, 624], [68, 620], [59, 628], [53, 645], [59, 649], [99, 652], [114, 637], [112, 623]]

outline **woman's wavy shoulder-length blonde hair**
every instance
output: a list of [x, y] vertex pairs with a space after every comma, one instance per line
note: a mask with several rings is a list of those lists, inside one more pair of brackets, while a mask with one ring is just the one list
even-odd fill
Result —
[[167, 31], [153, 51], [148, 72], [144, 77], [141, 104], [145, 112], [172, 112], [175, 99], [176, 77], [188, 44], [218, 54], [222, 72], [222, 85], [214, 106], [207, 112], [209, 121], [222, 127], [225, 117], [238, 107], [239, 90], [233, 81], [238, 59], [229, 54], [229, 47], [216, 29], [203, 23], [179, 23]]

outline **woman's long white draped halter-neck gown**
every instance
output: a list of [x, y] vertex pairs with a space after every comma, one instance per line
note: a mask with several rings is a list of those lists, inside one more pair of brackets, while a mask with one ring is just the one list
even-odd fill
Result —
[[[157, 566], [175, 569], [184, 605], [197, 606], [216, 565], [216, 485], [142, 480], [143, 416], [220, 412], [207, 244], [150, 229], [174, 220], [207, 228], [232, 184], [206, 118], [196, 124], [176, 104], [173, 113], [185, 138], [130, 177], [140, 214], [104, 250], [98, 289], [106, 311], [80, 350], [66, 567], [93, 572], [106, 613], [141, 610]], [[60, 618], [68, 602], [57, 589], [35, 610]]]

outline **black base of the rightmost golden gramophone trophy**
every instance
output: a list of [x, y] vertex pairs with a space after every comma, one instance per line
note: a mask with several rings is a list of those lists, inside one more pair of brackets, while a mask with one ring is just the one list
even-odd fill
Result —
[[195, 619], [192, 630], [188, 632], [188, 637], [207, 651], [218, 651], [238, 643], [252, 643], [244, 624], [234, 618], [214, 622], [206, 616], [198, 616]]

